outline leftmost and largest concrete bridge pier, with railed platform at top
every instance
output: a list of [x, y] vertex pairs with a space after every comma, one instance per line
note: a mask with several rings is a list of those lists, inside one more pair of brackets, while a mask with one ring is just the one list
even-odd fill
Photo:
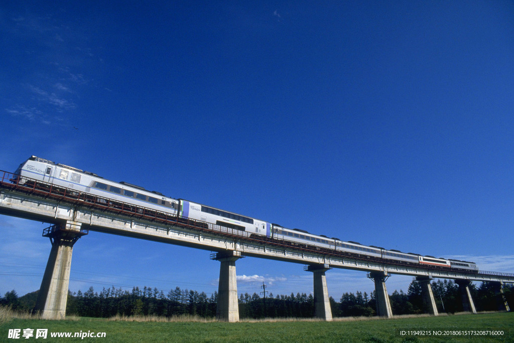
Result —
[[71, 253], [73, 245], [84, 234], [87, 231], [81, 229], [81, 224], [72, 221], [43, 230], [43, 237], [50, 238], [52, 243], [34, 308], [43, 319], [64, 319], [66, 316]]

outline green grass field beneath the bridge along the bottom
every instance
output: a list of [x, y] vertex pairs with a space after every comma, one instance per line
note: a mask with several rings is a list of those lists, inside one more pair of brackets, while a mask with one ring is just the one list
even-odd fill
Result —
[[[155, 319], [155, 318], [154, 318]], [[342, 319], [342, 318], [341, 318]], [[42, 320], [0, 317], [0, 341], [48, 342], [514, 342], [514, 313], [439, 317], [323, 321], [126, 321], [100, 318]], [[152, 320], [152, 319], [150, 319]], [[48, 329], [46, 339], [25, 339], [23, 329]], [[9, 329], [21, 329], [8, 339]], [[422, 331], [428, 336], [401, 335]], [[503, 331], [503, 335], [470, 336], [451, 331]], [[51, 338], [53, 332], [105, 332], [103, 338]], [[448, 335], [448, 331], [450, 331]], [[435, 335], [438, 334], [438, 335]], [[72, 334], [73, 335], [73, 334]], [[35, 336], [35, 330], [34, 330]]]

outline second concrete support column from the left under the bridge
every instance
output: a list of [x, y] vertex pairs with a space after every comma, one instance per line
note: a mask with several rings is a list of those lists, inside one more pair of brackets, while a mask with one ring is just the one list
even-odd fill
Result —
[[228, 322], [239, 321], [235, 261], [241, 258], [241, 253], [239, 251], [218, 252], [211, 258], [221, 262], [216, 318]]

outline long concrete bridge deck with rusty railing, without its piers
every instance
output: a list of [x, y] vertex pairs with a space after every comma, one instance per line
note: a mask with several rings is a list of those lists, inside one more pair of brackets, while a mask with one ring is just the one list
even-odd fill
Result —
[[236, 250], [244, 256], [303, 264], [328, 264], [366, 272], [458, 278], [514, 283], [514, 274], [455, 272], [450, 268], [421, 267], [415, 263], [316, 248], [250, 234], [212, 223], [201, 222], [150, 208], [114, 201], [94, 194], [31, 180], [0, 171], [0, 213], [49, 223], [76, 221], [90, 230], [140, 239], [191, 246], [205, 250]]

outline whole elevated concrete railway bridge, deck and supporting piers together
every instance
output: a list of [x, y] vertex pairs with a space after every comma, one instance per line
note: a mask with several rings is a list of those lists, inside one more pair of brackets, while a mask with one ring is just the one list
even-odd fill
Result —
[[470, 282], [493, 282], [499, 310], [509, 310], [502, 286], [514, 283], [514, 274], [457, 271], [302, 245], [150, 208], [136, 208], [39, 180], [21, 185], [17, 179], [13, 173], [0, 171], [0, 214], [52, 224], [43, 230], [52, 247], [36, 302], [36, 310], [43, 318], [64, 317], [72, 248], [89, 230], [215, 251], [211, 259], [221, 262], [216, 313], [220, 320], [238, 321], [235, 262], [245, 256], [306, 265], [304, 269], [314, 275], [316, 316], [324, 320], [332, 320], [325, 278], [325, 272], [332, 268], [367, 272], [375, 283], [380, 316], [392, 316], [386, 280], [393, 274], [413, 276], [419, 281], [427, 308], [434, 315], [438, 313], [430, 285], [433, 278], [455, 280], [461, 290], [463, 309], [469, 312], [476, 312], [469, 292]]

